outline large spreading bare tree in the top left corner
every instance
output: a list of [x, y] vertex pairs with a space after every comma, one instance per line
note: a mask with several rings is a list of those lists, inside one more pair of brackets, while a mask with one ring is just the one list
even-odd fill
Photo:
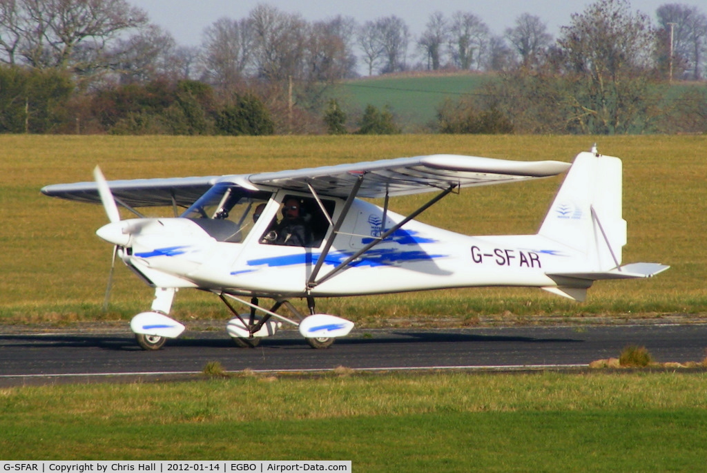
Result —
[[[147, 14], [126, 0], [0, 1], [2, 61], [37, 69], [107, 67], [101, 62], [110, 45], [148, 24]], [[86, 58], [93, 64], [85, 64]]]

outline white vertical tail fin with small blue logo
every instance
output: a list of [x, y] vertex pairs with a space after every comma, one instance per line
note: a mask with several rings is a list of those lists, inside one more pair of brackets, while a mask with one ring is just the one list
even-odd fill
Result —
[[583, 252], [586, 271], [619, 267], [621, 248], [626, 244], [621, 177], [619, 158], [579, 153], [539, 235]]

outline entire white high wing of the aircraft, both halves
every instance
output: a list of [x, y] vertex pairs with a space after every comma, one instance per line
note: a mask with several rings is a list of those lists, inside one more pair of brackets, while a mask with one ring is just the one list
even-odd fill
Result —
[[[385, 197], [386, 194], [392, 197], [448, 187], [548, 177], [569, 167], [570, 163], [560, 161], [512, 161], [437, 154], [251, 175], [113, 180], [108, 185], [113, 196], [127, 206], [189, 206], [216, 182], [233, 182], [254, 190], [256, 186], [264, 186], [310, 192], [311, 186], [318, 194], [346, 197], [363, 175], [358, 197], [375, 198]], [[100, 204], [95, 182], [48, 185], [42, 188], [42, 193], [50, 197]]]

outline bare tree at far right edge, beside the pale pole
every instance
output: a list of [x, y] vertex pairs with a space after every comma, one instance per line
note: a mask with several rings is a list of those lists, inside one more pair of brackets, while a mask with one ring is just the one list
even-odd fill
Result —
[[670, 41], [672, 33], [670, 59], [675, 66], [684, 62], [684, 69], [690, 71], [689, 77], [699, 81], [704, 69], [703, 54], [707, 53], [707, 16], [696, 6], [683, 4], [661, 5], [655, 13], [658, 25], [665, 30], [665, 42]]

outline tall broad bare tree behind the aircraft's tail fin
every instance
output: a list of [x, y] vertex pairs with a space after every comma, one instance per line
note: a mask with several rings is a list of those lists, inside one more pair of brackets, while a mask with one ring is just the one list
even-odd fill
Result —
[[600, 0], [572, 15], [558, 44], [568, 71], [570, 121], [583, 133], [628, 133], [651, 119], [655, 30], [627, 0]]

